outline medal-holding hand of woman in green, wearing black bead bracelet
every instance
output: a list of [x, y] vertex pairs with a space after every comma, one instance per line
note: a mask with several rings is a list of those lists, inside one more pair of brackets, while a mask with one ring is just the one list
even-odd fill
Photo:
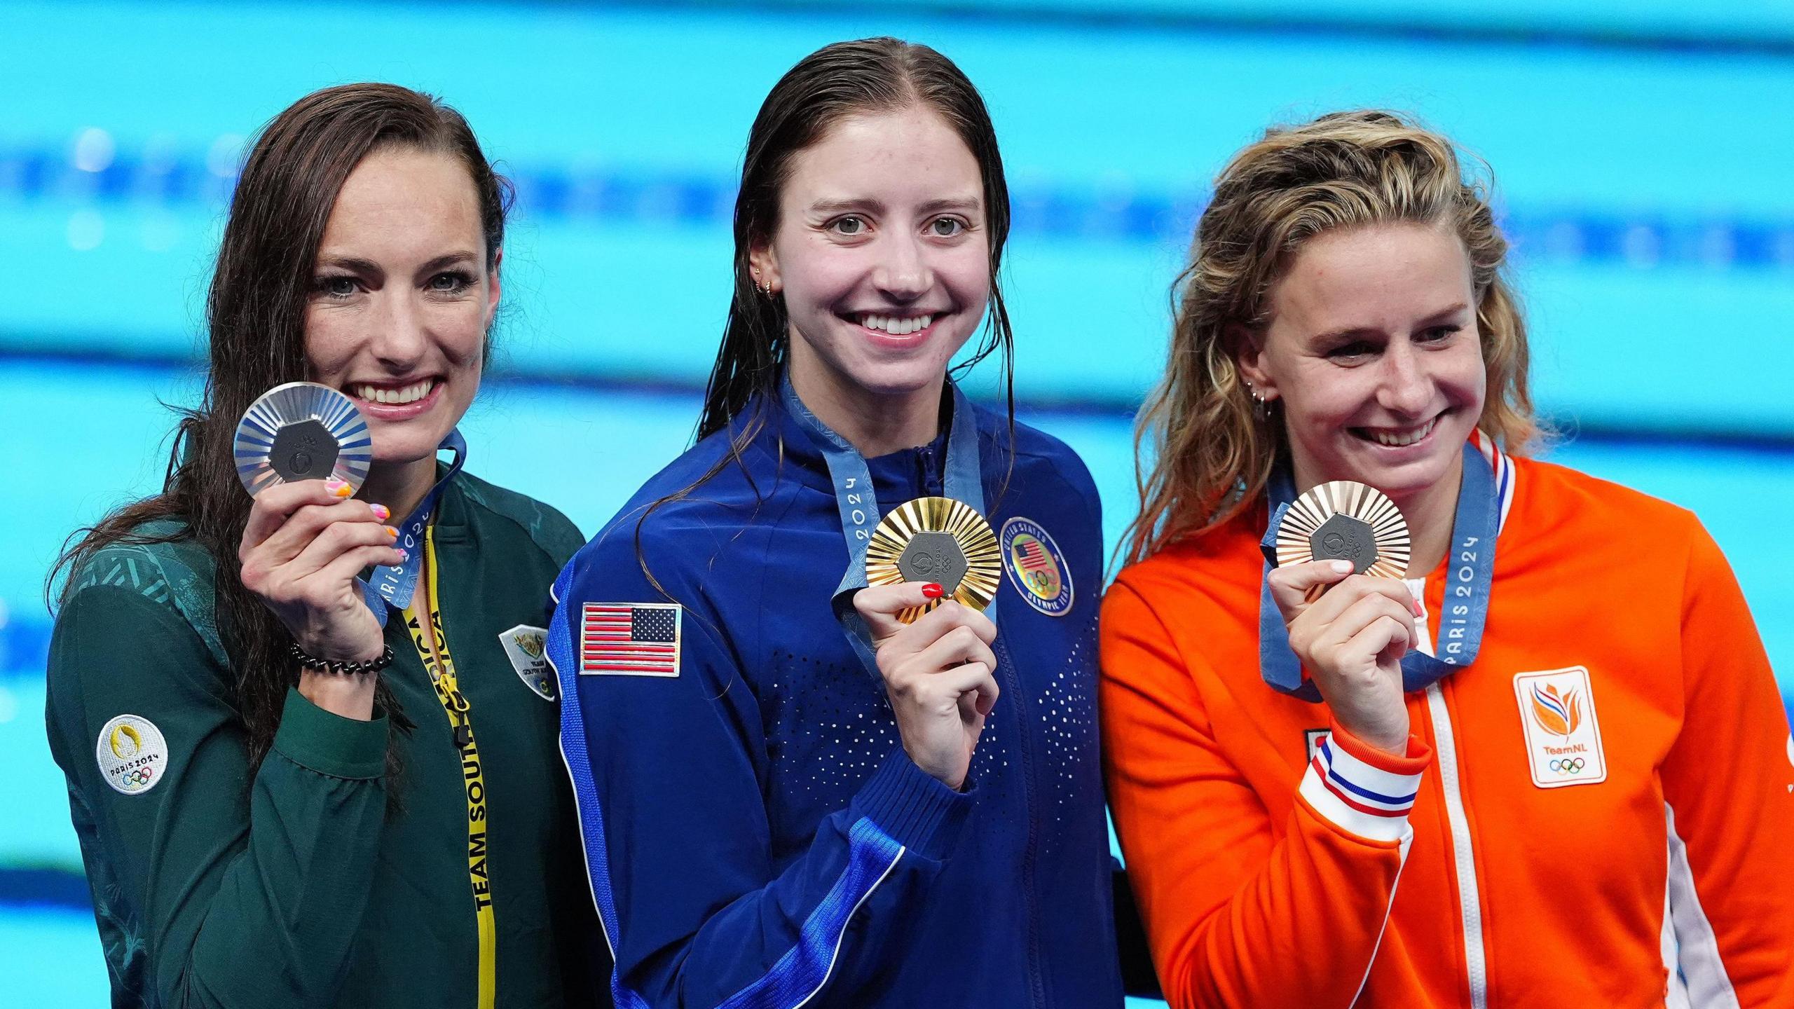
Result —
[[[380, 657], [384, 636], [355, 576], [364, 567], [402, 564], [398, 530], [380, 504], [350, 497], [339, 479], [280, 483], [255, 496], [237, 560], [242, 583], [287, 625], [316, 659], [364, 662]], [[373, 675], [300, 671], [300, 693], [348, 718], [373, 716]]]

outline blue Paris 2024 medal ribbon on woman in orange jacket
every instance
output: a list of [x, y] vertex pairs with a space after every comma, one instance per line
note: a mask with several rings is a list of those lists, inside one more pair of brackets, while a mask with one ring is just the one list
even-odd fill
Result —
[[[1491, 463], [1471, 442], [1464, 443], [1462, 467], [1457, 517], [1451, 521], [1451, 551], [1446, 555], [1446, 594], [1444, 605], [1439, 607], [1442, 612], [1435, 632], [1435, 655], [1410, 648], [1401, 657], [1403, 691], [1426, 689], [1451, 670], [1475, 662], [1476, 652], [1482, 648], [1502, 501]], [[1270, 575], [1277, 564], [1277, 522], [1295, 501], [1295, 481], [1286, 465], [1272, 470], [1267, 497], [1270, 501], [1270, 528], [1265, 530], [1259, 549], [1265, 551], [1265, 575]], [[1320, 689], [1313, 680], [1302, 677], [1302, 662], [1295, 652], [1290, 652], [1290, 628], [1283, 623], [1277, 601], [1270, 598], [1268, 582], [1258, 598], [1258, 666], [1272, 688], [1302, 700], [1320, 700]]]

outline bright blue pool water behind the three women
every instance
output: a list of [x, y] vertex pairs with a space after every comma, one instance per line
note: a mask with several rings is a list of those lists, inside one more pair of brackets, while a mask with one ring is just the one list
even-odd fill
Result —
[[[1267, 124], [1417, 113], [1494, 167], [1548, 458], [1692, 508], [1794, 695], [1794, 14], [1670, 0], [897, 0], [888, 5], [97, 0], [0, 5], [0, 1002], [102, 1005], [43, 740], [43, 578], [154, 490], [196, 395], [244, 138], [298, 95], [441, 93], [517, 180], [470, 469], [587, 531], [696, 420], [755, 106], [816, 45], [958, 59], [1003, 142], [1023, 418], [1089, 463], [1110, 546], [1130, 413], [1209, 180]], [[994, 372], [971, 386], [985, 395]], [[1577, 436], [1577, 433], [1582, 433]], [[1624, 603], [1616, 607], [1624, 619]]]

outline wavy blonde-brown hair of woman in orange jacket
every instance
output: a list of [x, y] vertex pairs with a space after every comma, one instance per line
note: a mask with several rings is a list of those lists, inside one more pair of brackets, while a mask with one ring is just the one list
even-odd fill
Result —
[[1222, 169], [1173, 285], [1170, 364], [1134, 434], [1141, 510], [1123, 539], [1128, 562], [1259, 499], [1288, 447], [1281, 413], [1254, 418], [1231, 334], [1263, 332], [1270, 291], [1304, 242], [1387, 221], [1448, 228], [1464, 242], [1489, 388], [1478, 427], [1514, 454], [1541, 433], [1527, 388], [1527, 323], [1505, 278], [1507, 239], [1487, 183], [1466, 178], [1451, 140], [1389, 111], [1270, 129]]

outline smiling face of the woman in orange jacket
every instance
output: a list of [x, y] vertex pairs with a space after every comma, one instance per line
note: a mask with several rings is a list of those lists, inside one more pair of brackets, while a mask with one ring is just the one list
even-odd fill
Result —
[[1455, 492], [1487, 390], [1457, 235], [1412, 223], [1322, 233], [1270, 311], [1240, 366], [1283, 408], [1299, 487], [1356, 479], [1403, 510]]

